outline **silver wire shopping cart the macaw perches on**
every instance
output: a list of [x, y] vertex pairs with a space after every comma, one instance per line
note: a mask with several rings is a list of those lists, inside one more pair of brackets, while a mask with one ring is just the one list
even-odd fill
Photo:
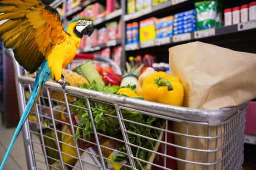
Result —
[[[7, 51], [7, 54], [13, 57], [12, 51]], [[25, 87], [28, 86], [31, 91], [34, 78], [22, 76], [21, 67], [15, 60], [13, 61], [19, 110], [22, 113], [26, 104]], [[58, 170], [121, 168], [123, 170], [241, 170], [242, 168], [247, 104], [220, 110], [199, 110], [73, 86], [66, 86], [68, 92], [66, 94], [59, 84], [52, 82], [47, 82], [43, 88], [46, 94], [40, 95], [34, 111], [37, 122], [26, 121], [22, 131], [29, 170], [40, 169], [38, 164], [43, 164], [44, 167], [41, 169], [46, 170], [52, 168]], [[52, 98], [51, 91], [62, 93], [64, 99]], [[82, 100], [85, 106], [69, 101], [69, 96]], [[99, 125], [99, 119], [96, 119], [94, 104], [111, 108], [111, 110], [102, 111], [101, 116], [111, 120], [113, 124], [110, 126], [115, 127], [113, 134], [108, 132], [110, 128], [105, 129], [106, 131], [103, 131], [102, 127], [99, 128], [103, 123]], [[57, 110], [56, 105], [65, 107], [65, 110]], [[50, 111], [49, 114], [45, 113], [46, 109]], [[84, 111], [87, 121], [88, 119], [90, 121], [86, 124], [91, 125], [89, 139], [87, 136], [85, 139], [80, 137], [79, 140], [73, 140], [80, 133], [76, 131], [79, 123], [74, 121], [73, 112], [76, 109]], [[57, 118], [56, 111], [65, 115], [68, 121]], [[43, 123], [45, 119], [50, 121], [52, 126], [45, 125]], [[31, 123], [37, 124], [39, 130], [31, 130], [29, 126]], [[59, 129], [58, 124], [66, 125], [70, 133]], [[53, 137], [44, 134], [44, 128], [52, 131]], [[84, 129], [84, 127], [81, 128], [81, 131], [88, 133]], [[31, 137], [34, 135], [40, 137], [40, 142], [36, 142]], [[65, 142], [63, 140], [65, 135], [69, 136], [73, 143]], [[56, 147], [47, 145], [46, 139], [54, 141]], [[42, 150], [35, 151], [35, 145], [40, 145]], [[67, 152], [64, 145], [74, 152], [72, 154]], [[47, 152], [49, 149], [55, 151], [58, 158], [53, 158]], [[44, 160], [39, 159], [42, 156]], [[73, 160], [67, 161], [67, 156]], [[59, 165], [50, 164], [52, 160]], [[113, 160], [118, 164], [114, 164]]]

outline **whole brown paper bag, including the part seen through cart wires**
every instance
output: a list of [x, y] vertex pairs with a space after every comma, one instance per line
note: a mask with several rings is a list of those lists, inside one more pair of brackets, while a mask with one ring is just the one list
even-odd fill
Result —
[[[185, 90], [185, 107], [219, 109], [242, 104], [256, 98], [256, 54], [232, 51], [202, 42], [192, 42], [169, 49], [169, 63], [173, 75], [178, 76]], [[175, 122], [174, 131], [186, 134], [186, 124]], [[223, 134], [223, 126], [211, 126], [210, 136]], [[208, 128], [203, 125], [188, 125], [188, 134], [208, 136]], [[207, 149], [206, 139], [187, 138], [176, 135], [175, 142], [180, 146], [194, 149]], [[187, 144], [187, 145], [186, 145]], [[223, 139], [210, 140], [209, 149], [223, 146]], [[176, 148], [177, 157], [194, 162], [207, 162], [207, 153]], [[216, 160], [222, 158], [222, 151]], [[210, 163], [215, 162], [215, 154], [208, 155]], [[206, 170], [206, 166], [185, 164], [178, 161], [178, 169]], [[216, 164], [216, 170], [222, 167]], [[207, 170], [213, 170], [209, 166]]]

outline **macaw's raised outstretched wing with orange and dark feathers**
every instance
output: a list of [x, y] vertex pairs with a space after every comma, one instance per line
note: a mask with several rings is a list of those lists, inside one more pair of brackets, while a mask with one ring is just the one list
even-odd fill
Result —
[[40, 0], [0, 0], [0, 41], [13, 48], [21, 66], [33, 73], [51, 49], [69, 36], [59, 13]]

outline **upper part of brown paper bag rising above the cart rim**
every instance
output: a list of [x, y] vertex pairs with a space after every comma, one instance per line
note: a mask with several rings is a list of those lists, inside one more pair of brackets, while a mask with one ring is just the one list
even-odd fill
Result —
[[256, 54], [191, 42], [169, 49], [185, 89], [185, 107], [219, 109], [256, 98]]

